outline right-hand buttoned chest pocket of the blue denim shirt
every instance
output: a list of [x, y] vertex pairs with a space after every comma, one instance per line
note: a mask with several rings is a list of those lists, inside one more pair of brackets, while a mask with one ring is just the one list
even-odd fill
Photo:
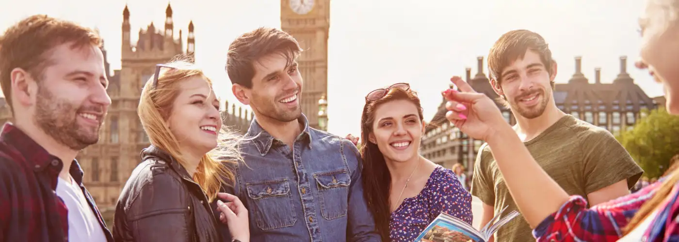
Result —
[[314, 174], [320, 196], [320, 214], [326, 220], [346, 216], [351, 176], [347, 169]]

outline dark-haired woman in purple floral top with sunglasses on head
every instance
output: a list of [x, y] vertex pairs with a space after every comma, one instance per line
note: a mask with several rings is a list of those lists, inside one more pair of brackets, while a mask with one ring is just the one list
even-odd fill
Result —
[[442, 212], [472, 222], [471, 194], [455, 173], [418, 153], [422, 119], [420, 98], [407, 83], [365, 97], [363, 189], [382, 241], [414, 241]]

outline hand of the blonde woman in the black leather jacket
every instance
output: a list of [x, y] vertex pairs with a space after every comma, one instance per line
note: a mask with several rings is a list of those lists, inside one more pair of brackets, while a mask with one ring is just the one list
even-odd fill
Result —
[[217, 200], [217, 209], [221, 211], [219, 220], [229, 226], [229, 233], [232, 239], [241, 242], [250, 241], [250, 225], [248, 220], [248, 209], [234, 195], [228, 193], [217, 193], [219, 199], [224, 199], [227, 203]]

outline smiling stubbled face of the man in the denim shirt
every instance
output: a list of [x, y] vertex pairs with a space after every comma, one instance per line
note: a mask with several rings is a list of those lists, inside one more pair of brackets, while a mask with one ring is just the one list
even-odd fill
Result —
[[273, 53], [253, 63], [253, 87], [244, 89], [245, 96], [257, 117], [268, 117], [280, 122], [290, 122], [301, 116], [302, 78], [297, 62], [284, 54]]

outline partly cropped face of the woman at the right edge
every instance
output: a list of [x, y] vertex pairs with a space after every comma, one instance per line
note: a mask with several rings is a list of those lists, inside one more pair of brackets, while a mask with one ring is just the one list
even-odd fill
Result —
[[648, 0], [640, 18], [642, 46], [640, 68], [663, 83], [667, 111], [679, 115], [679, 3]]

